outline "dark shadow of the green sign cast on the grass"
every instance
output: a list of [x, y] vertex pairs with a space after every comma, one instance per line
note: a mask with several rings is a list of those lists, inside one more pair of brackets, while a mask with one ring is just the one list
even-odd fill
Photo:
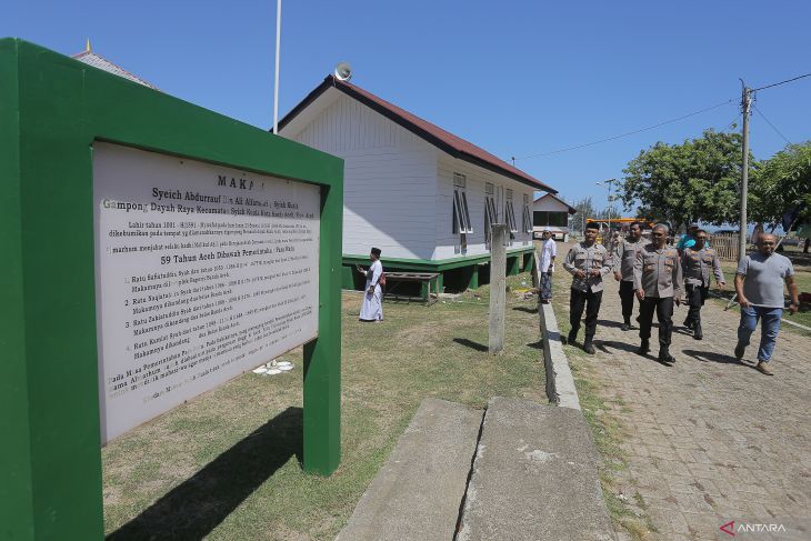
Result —
[[301, 463], [302, 423], [288, 408], [107, 539], [203, 539], [291, 457]]

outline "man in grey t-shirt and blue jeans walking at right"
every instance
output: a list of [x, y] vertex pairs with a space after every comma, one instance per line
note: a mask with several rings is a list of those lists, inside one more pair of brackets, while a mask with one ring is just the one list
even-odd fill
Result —
[[800, 308], [799, 292], [794, 282], [794, 268], [789, 258], [774, 253], [777, 240], [773, 234], [762, 234], [758, 240], [758, 251], [741, 260], [735, 272], [735, 293], [741, 304], [741, 323], [738, 325], [735, 359], [743, 359], [749, 339], [760, 325], [760, 348], [758, 365], [760, 372], [772, 375], [768, 364], [774, 353], [774, 344], [780, 333], [783, 317], [783, 282], [789, 288], [791, 303], [789, 312], [797, 313]]

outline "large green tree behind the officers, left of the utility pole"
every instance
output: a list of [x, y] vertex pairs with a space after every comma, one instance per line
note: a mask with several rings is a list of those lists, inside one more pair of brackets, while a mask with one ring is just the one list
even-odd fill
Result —
[[623, 170], [620, 197], [638, 216], [677, 229], [692, 221], [721, 224], [740, 216], [742, 140], [739, 133], [707, 130], [681, 144], [658, 142]]

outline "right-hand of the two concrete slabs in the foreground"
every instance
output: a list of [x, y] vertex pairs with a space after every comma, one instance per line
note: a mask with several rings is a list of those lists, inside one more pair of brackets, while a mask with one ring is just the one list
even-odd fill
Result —
[[457, 541], [608, 541], [598, 454], [582, 413], [490, 400]]

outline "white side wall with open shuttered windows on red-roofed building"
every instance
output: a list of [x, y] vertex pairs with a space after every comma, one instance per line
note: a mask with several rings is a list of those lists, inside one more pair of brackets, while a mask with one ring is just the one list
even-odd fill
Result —
[[[532, 210], [533, 190], [527, 184], [508, 179], [487, 169], [452, 158], [440, 152], [437, 160], [439, 182], [437, 183], [435, 238], [437, 247], [432, 259], [480, 256], [489, 252], [484, 237], [484, 184], [495, 187], [495, 208], [499, 221], [504, 221], [505, 189], [512, 189], [512, 204], [519, 232], [509, 249], [531, 247], [531, 233], [523, 232], [523, 194], [529, 198]], [[465, 193], [473, 233], [467, 236], [467, 250], [462, 250], [461, 237], [453, 233], [453, 173], [465, 176]]]

